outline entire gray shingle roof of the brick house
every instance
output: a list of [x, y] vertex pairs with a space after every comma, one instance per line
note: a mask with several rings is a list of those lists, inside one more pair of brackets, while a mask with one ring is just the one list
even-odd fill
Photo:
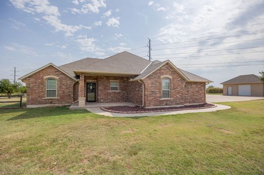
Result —
[[[164, 62], [155, 60], [153, 62], [137, 55], [121, 52], [105, 59], [85, 58], [72, 63], [59, 66], [60, 69], [75, 77], [74, 70], [85, 72], [111, 72], [137, 74], [134, 80], [142, 79]], [[179, 68], [178, 68], [179, 69]], [[179, 69], [190, 81], [211, 82], [201, 76]]]

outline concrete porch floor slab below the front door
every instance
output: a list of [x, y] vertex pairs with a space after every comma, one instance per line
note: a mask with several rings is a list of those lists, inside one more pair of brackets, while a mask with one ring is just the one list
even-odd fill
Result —
[[118, 103], [97, 103], [97, 102], [86, 102], [84, 106], [79, 106], [79, 103], [73, 103], [70, 109], [87, 109], [87, 108], [101, 108], [111, 106], [135, 106], [134, 103], [130, 102], [118, 102]]

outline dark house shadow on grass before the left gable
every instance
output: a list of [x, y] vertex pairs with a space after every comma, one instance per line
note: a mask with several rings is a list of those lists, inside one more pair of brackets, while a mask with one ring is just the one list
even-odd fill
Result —
[[19, 113], [7, 120], [20, 120], [40, 117], [58, 117], [63, 115], [78, 115], [90, 113], [87, 110], [69, 110], [67, 107], [31, 108], [31, 109], [10, 109], [0, 111], [0, 114]]

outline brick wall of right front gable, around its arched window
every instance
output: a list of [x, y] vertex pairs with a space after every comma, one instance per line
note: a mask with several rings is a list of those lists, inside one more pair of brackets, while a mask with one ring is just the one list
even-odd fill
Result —
[[[162, 99], [162, 75], [170, 75], [171, 99]], [[145, 106], [183, 105], [187, 103], [205, 103], [205, 83], [186, 82], [169, 63], [144, 79]], [[161, 100], [162, 99], [162, 100]]]

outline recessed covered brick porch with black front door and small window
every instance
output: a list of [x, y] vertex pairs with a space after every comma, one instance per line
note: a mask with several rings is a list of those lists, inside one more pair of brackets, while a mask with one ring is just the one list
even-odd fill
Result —
[[142, 105], [142, 83], [130, 81], [131, 74], [77, 73], [78, 85], [71, 109]]

